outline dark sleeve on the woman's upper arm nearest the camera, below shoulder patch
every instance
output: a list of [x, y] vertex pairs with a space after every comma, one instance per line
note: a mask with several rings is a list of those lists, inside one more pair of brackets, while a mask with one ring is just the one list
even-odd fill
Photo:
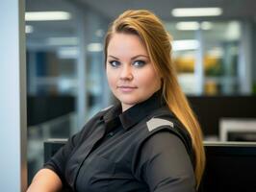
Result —
[[194, 192], [192, 161], [181, 139], [156, 132], [141, 148], [139, 170], [151, 192]]

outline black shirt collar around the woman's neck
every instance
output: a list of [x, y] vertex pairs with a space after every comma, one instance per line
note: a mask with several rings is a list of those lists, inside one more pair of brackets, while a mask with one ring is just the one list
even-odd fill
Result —
[[121, 124], [125, 130], [128, 130], [139, 123], [141, 119], [150, 114], [154, 109], [161, 108], [164, 105], [166, 105], [166, 102], [162, 97], [162, 91], [159, 90], [146, 101], [128, 108], [124, 112], [121, 111], [121, 104], [118, 103], [104, 115], [103, 119], [108, 130], [112, 130], [118, 124]]

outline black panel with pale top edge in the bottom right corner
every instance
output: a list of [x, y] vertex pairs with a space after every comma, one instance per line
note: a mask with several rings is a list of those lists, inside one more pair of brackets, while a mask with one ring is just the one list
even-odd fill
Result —
[[256, 191], [256, 143], [205, 142], [206, 168], [199, 192]]

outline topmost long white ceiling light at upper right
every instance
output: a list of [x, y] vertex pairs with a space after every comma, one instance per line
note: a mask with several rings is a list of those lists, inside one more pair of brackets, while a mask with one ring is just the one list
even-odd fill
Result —
[[178, 8], [173, 9], [171, 14], [176, 17], [185, 16], [218, 16], [222, 13], [220, 8]]

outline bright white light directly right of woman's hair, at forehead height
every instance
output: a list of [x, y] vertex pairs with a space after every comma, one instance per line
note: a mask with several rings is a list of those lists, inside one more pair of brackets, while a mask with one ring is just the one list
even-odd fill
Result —
[[194, 39], [174, 40], [172, 42], [173, 51], [195, 50], [198, 48], [199, 42]]

